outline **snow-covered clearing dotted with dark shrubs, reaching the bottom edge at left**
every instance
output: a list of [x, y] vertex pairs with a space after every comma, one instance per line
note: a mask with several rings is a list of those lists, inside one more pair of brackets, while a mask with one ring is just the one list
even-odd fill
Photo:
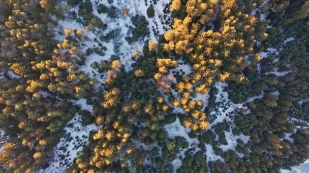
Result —
[[[82, 126], [81, 116], [76, 114], [65, 127], [66, 135], [60, 138], [59, 143], [55, 146], [53, 159], [49, 161], [49, 166], [46, 169], [41, 169], [39, 172], [65, 172], [66, 168], [73, 164], [74, 158], [81, 153], [83, 146], [88, 144], [90, 133], [96, 132], [100, 128], [101, 126], [95, 124]], [[68, 165], [64, 164], [65, 161], [67, 161]]]

